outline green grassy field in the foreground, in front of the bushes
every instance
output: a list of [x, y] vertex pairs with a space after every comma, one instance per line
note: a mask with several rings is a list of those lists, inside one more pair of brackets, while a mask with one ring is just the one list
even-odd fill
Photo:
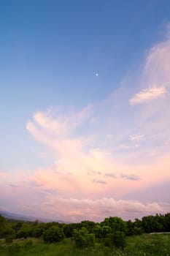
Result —
[[170, 235], [131, 236], [125, 249], [97, 244], [95, 248], [77, 249], [72, 239], [58, 244], [44, 244], [40, 239], [15, 240], [12, 244], [0, 241], [0, 256], [170, 256]]

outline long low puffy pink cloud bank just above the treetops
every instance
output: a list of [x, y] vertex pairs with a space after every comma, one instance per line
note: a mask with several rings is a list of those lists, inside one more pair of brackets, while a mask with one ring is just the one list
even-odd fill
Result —
[[[147, 214], [163, 213], [163, 207], [158, 203], [115, 200], [112, 197], [101, 197], [96, 200], [47, 197], [46, 202], [44, 203], [44, 207], [47, 207], [46, 211], [53, 212], [55, 216], [72, 222], [82, 219], [100, 222], [109, 216], [120, 216], [128, 219], [131, 215], [142, 217]], [[56, 208], [56, 206], [58, 207]]]

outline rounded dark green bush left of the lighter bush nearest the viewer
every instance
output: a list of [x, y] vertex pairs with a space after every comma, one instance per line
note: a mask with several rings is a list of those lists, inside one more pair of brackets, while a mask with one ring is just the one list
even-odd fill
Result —
[[45, 243], [56, 243], [64, 238], [63, 230], [60, 227], [52, 226], [43, 233]]

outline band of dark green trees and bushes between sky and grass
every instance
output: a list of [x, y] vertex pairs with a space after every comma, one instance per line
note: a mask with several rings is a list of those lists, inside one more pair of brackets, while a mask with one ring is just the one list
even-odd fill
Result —
[[72, 238], [77, 247], [105, 246], [124, 248], [126, 236], [142, 233], [170, 232], [170, 213], [156, 214], [142, 219], [124, 221], [120, 217], [108, 217], [103, 222], [85, 220], [79, 223], [25, 222], [5, 219], [0, 215], [0, 238], [11, 243], [15, 238], [42, 238], [45, 243], [57, 243]]

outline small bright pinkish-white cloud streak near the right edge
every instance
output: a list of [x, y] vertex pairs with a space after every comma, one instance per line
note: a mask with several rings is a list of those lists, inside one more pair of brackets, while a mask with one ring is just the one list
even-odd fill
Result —
[[167, 94], [166, 88], [164, 86], [152, 87], [148, 89], [143, 89], [138, 94], [135, 94], [129, 102], [132, 105], [142, 104], [144, 102], [150, 102], [153, 99], [158, 99], [160, 97], [164, 97]]

